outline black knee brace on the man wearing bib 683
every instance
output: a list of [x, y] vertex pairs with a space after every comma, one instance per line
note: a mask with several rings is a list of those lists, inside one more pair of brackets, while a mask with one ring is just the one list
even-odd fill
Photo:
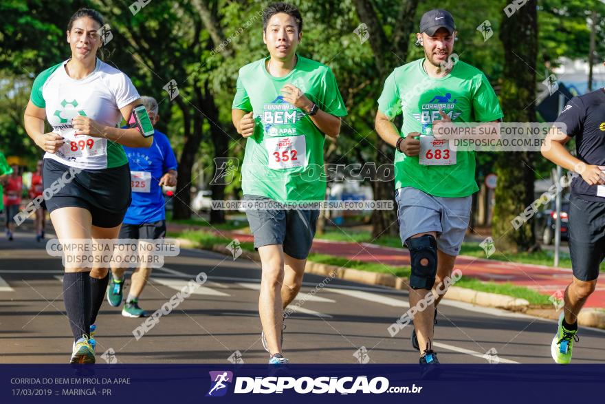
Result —
[[[412, 289], [428, 289], [434, 285], [437, 275], [437, 240], [430, 235], [409, 238], [406, 245], [410, 249], [412, 258], [412, 275], [410, 275], [410, 286]], [[422, 259], [428, 263], [422, 265]]]

